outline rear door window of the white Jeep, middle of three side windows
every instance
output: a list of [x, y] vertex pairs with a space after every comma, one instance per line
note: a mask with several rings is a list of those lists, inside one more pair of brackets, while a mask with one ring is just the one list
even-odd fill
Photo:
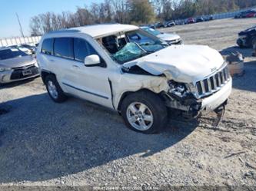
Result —
[[55, 38], [55, 56], [74, 59], [73, 38]]

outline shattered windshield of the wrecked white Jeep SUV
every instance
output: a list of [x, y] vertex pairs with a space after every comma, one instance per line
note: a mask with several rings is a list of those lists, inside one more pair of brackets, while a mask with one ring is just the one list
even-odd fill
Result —
[[168, 46], [165, 41], [142, 30], [118, 33], [98, 39], [98, 41], [118, 64], [133, 61]]

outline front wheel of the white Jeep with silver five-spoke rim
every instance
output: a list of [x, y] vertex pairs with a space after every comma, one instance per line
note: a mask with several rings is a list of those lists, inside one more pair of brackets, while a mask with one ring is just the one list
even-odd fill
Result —
[[125, 97], [121, 116], [131, 130], [146, 134], [158, 133], [168, 122], [167, 107], [151, 91], [139, 91]]

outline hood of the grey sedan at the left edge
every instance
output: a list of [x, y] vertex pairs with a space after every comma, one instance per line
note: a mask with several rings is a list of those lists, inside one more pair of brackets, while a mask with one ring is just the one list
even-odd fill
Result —
[[2, 68], [17, 68], [22, 66], [27, 66], [30, 64], [35, 64], [36, 60], [35, 58], [32, 58], [32, 56], [23, 56], [23, 57], [17, 57], [17, 58], [11, 58], [6, 60], [0, 60], [0, 67]]

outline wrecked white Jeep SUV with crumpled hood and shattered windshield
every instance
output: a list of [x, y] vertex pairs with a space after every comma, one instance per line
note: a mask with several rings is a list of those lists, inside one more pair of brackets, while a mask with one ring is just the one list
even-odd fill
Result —
[[168, 109], [185, 117], [227, 104], [232, 80], [221, 54], [171, 45], [134, 25], [90, 25], [42, 37], [38, 64], [49, 96], [81, 97], [118, 111], [132, 130], [155, 133]]

